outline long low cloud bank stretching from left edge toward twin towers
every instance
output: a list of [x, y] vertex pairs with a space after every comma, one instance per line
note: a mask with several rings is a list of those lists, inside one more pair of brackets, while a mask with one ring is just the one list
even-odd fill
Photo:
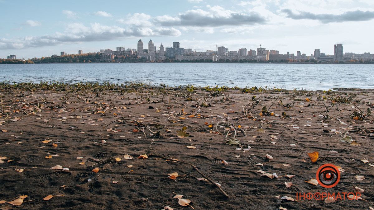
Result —
[[0, 49], [24, 49], [28, 47], [53, 46], [87, 41], [108, 41], [120, 38], [145, 36], [179, 36], [181, 32], [175, 28], [118, 26], [93, 23], [85, 26], [81, 23], [68, 24], [64, 32], [56, 32], [43, 36], [27, 36], [14, 39], [0, 39]]

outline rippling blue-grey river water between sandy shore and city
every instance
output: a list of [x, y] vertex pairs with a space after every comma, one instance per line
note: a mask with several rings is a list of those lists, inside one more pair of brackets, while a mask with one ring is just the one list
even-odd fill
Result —
[[1, 64], [0, 81], [126, 81], [169, 86], [374, 88], [374, 65], [351, 64]]

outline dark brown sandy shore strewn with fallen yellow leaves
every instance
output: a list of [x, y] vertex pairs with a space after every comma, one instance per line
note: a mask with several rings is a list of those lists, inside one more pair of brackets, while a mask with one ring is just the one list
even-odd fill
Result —
[[[34, 88], [30, 92], [2, 86], [0, 156], [6, 158], [0, 163], [0, 200], [28, 197], [19, 207], [4, 203], [0, 208], [163, 209], [170, 206], [191, 209], [180, 206], [178, 199], [173, 198], [174, 192], [191, 200], [194, 209], [374, 207], [374, 167], [369, 165], [374, 164], [374, 118], [350, 117], [354, 110], [361, 109], [364, 114], [371, 108], [373, 112], [372, 90], [331, 93], [229, 90], [208, 97], [213, 92], [169, 89], [163, 97], [164, 91], [159, 88], [135, 89], [99, 91], [97, 97], [91, 90]], [[258, 105], [254, 105], [252, 96], [260, 100]], [[325, 100], [320, 101], [317, 96]], [[335, 98], [334, 109], [330, 106], [332, 98]], [[199, 106], [203, 102], [208, 106]], [[322, 102], [329, 112], [324, 112], [326, 107]], [[271, 106], [270, 112], [274, 114], [260, 116], [264, 105]], [[149, 109], [150, 106], [153, 109]], [[244, 107], [248, 109], [246, 116]], [[282, 112], [287, 116], [282, 117]], [[110, 124], [122, 118], [137, 120], [140, 125], [132, 120]], [[209, 123], [215, 127], [220, 121], [236, 127], [235, 139], [241, 146], [224, 143], [227, 130], [230, 130], [227, 139], [233, 138], [232, 128], [225, 130], [226, 126], [220, 124], [218, 130], [223, 134], [220, 135], [209, 125], [205, 126]], [[151, 131], [145, 125], [159, 133], [150, 137]], [[246, 132], [246, 138], [237, 128], [239, 125]], [[177, 132], [184, 126], [190, 136], [180, 138]], [[365, 127], [355, 127], [347, 134], [358, 144], [341, 142], [341, 135], [354, 126], [367, 128], [365, 131]], [[261, 127], [264, 133], [258, 132]], [[144, 129], [146, 137], [137, 129]], [[43, 143], [43, 140], [51, 141]], [[251, 147], [248, 151], [236, 150], [248, 146]], [[319, 152], [316, 163], [312, 163], [307, 154], [313, 151]], [[134, 158], [126, 160], [125, 154]], [[148, 159], [138, 159], [142, 154], [147, 154]], [[269, 162], [266, 154], [273, 160]], [[49, 155], [52, 158], [45, 158]], [[77, 160], [77, 157], [83, 159]], [[220, 183], [229, 197], [217, 186], [197, 180], [203, 176], [190, 165], [172, 159], [193, 164], [213, 182]], [[369, 162], [362, 162], [364, 159]], [[9, 160], [12, 161], [8, 163]], [[228, 164], [224, 165], [222, 160]], [[84, 164], [80, 165], [81, 162]], [[258, 163], [263, 166], [255, 166]], [[327, 189], [306, 183], [316, 178], [317, 169], [325, 163], [343, 169], [338, 185]], [[56, 165], [69, 170], [50, 169]], [[91, 172], [95, 167], [100, 169], [98, 173]], [[258, 170], [276, 173], [278, 179], [261, 176]], [[169, 179], [168, 174], [174, 172], [178, 172], [177, 179]], [[285, 175], [295, 176], [288, 179]], [[365, 179], [357, 180], [356, 175]], [[287, 188], [285, 182], [293, 185]], [[61, 187], [63, 185], [65, 187]], [[328, 204], [324, 200], [281, 199], [283, 196], [296, 198], [296, 192], [353, 192], [354, 186], [365, 190], [361, 193], [364, 200], [339, 200]], [[42, 200], [47, 195], [64, 196]]]

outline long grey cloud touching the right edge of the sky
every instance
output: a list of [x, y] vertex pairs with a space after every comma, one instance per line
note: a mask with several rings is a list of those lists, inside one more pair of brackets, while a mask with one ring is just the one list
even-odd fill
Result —
[[348, 21], [370, 21], [374, 19], [374, 12], [371, 11], [362, 11], [362, 10], [355, 10], [355, 11], [347, 11], [339, 15], [334, 14], [315, 14], [311, 12], [305, 11], [298, 11], [298, 13], [292, 12], [290, 9], [282, 9], [283, 13], [286, 13], [288, 18], [292, 18], [295, 20], [301, 19], [311, 19], [311, 20], [318, 20], [322, 23], [331, 23], [331, 22], [348, 22]]

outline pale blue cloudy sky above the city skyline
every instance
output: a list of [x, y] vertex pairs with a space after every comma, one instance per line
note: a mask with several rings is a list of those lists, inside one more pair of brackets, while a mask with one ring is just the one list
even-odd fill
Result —
[[374, 0], [0, 0], [0, 58], [144, 49], [374, 53]]

